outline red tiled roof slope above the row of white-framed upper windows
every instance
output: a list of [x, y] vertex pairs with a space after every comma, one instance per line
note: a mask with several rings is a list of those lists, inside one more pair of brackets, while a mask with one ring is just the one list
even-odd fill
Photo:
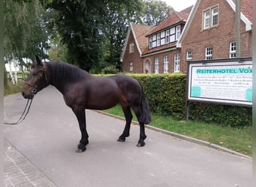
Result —
[[175, 25], [179, 22], [186, 22], [186, 19], [189, 17], [189, 13], [192, 10], [192, 7], [187, 7], [184, 10], [181, 10], [180, 12], [171, 11], [171, 13], [168, 13], [168, 17], [165, 18], [159, 25], [157, 25], [155, 28], [153, 28], [152, 31], [148, 35], [154, 34], [158, 31], [161, 31], [164, 28], [168, 28], [171, 25]]

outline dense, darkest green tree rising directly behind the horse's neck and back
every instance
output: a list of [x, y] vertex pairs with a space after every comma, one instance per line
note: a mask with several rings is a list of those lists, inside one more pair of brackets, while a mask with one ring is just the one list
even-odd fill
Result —
[[68, 62], [84, 70], [90, 70], [101, 59], [103, 37], [99, 30], [99, 15], [103, 11], [103, 2], [52, 0], [48, 4], [50, 13], [57, 12], [49, 24], [55, 25], [62, 43], [67, 44]]

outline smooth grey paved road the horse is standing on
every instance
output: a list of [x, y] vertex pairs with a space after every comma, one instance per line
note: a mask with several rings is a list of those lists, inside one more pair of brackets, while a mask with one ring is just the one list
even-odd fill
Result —
[[[24, 106], [19, 94], [5, 97], [5, 121], [16, 120]], [[97, 111], [86, 114], [90, 144], [85, 153], [75, 153], [80, 138], [76, 117], [61, 93], [46, 88], [35, 96], [24, 122], [4, 126], [7, 148], [34, 165], [43, 181], [50, 181], [45, 186], [251, 186], [252, 159], [150, 129], [146, 129], [146, 146], [135, 147], [138, 126], [132, 125], [130, 137], [121, 143], [116, 140], [124, 129], [123, 120]]]

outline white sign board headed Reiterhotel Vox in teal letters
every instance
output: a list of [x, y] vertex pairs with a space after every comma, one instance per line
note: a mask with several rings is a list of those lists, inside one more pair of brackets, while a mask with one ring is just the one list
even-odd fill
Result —
[[252, 61], [189, 63], [188, 100], [252, 105]]

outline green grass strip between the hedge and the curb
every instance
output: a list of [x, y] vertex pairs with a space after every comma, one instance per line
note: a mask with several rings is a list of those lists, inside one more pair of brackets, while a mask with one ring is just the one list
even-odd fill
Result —
[[[124, 117], [120, 105], [110, 108], [105, 112]], [[133, 120], [137, 120], [132, 113]], [[150, 126], [176, 132], [181, 135], [187, 135], [199, 140], [208, 141], [231, 150], [252, 156], [252, 126], [243, 128], [232, 128], [230, 126], [221, 126], [217, 124], [200, 123], [195, 121], [179, 121], [168, 116], [151, 114], [152, 122]]]

